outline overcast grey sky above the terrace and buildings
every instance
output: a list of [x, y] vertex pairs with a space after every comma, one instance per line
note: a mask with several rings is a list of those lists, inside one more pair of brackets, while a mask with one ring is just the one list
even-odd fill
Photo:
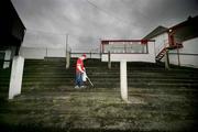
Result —
[[158, 25], [198, 15], [198, 0], [12, 0], [26, 26], [25, 46], [91, 50], [99, 38], [142, 38]]

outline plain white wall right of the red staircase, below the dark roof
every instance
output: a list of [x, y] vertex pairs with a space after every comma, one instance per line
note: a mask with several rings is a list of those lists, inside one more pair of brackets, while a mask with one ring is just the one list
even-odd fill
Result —
[[[179, 50], [180, 65], [198, 68], [198, 37], [183, 42], [183, 46]], [[177, 50], [169, 52], [169, 62], [178, 65]]]

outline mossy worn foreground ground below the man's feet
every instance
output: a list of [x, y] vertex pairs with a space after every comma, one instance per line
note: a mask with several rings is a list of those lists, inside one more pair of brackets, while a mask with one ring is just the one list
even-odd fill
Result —
[[0, 123], [23, 131], [196, 131], [194, 91], [131, 89], [130, 103], [120, 100], [118, 89], [29, 92], [0, 107]]

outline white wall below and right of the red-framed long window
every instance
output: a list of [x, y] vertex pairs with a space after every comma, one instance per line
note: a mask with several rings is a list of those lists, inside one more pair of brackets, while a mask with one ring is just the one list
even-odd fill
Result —
[[[150, 62], [155, 63], [155, 42], [148, 42], [148, 54], [111, 54], [112, 62]], [[102, 54], [102, 62], [108, 62], [108, 54]]]

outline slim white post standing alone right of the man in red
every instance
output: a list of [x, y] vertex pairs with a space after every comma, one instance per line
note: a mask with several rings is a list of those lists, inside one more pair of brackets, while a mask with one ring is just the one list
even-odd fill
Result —
[[127, 61], [120, 62], [120, 89], [121, 89], [121, 98], [128, 102]]

